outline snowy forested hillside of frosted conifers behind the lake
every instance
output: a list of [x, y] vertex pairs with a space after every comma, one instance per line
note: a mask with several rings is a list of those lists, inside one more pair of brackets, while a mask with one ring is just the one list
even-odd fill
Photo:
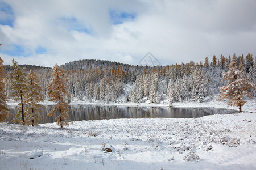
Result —
[[[239, 70], [255, 84], [256, 63], [253, 55], [246, 57], [233, 54], [232, 57], [205, 58], [204, 62], [181, 63], [167, 66], [132, 66], [100, 60], [80, 60], [65, 63], [64, 74], [68, 77], [69, 102], [87, 100], [112, 102], [160, 103], [172, 95], [173, 101], [204, 101], [220, 93], [222, 75], [229, 70], [229, 64], [236, 61]], [[44, 100], [47, 97], [51, 68], [20, 65], [26, 73], [31, 69], [40, 78]], [[10, 73], [12, 66], [5, 67], [6, 96], [11, 99]], [[250, 90], [256, 96], [255, 88]], [[120, 97], [122, 96], [122, 97]]]

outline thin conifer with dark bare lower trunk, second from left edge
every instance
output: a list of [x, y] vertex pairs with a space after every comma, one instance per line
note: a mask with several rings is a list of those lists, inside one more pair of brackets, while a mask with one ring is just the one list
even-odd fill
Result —
[[26, 120], [23, 98], [27, 91], [26, 74], [24, 73], [24, 70], [19, 67], [18, 62], [14, 61], [14, 59], [12, 62], [14, 71], [11, 73], [11, 90], [13, 90], [11, 96], [13, 96], [14, 100], [20, 100], [18, 113], [13, 121], [25, 125]]

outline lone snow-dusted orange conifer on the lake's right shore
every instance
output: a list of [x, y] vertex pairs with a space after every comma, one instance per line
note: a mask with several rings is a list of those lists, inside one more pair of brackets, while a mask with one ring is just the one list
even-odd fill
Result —
[[218, 100], [228, 99], [228, 105], [237, 106], [239, 112], [242, 112], [242, 105], [246, 102], [243, 98], [245, 95], [249, 96], [248, 90], [253, 88], [253, 84], [247, 81], [242, 70], [238, 70], [235, 60], [230, 63], [229, 71], [223, 74], [222, 81], [228, 83], [220, 87], [221, 94], [218, 95]]

